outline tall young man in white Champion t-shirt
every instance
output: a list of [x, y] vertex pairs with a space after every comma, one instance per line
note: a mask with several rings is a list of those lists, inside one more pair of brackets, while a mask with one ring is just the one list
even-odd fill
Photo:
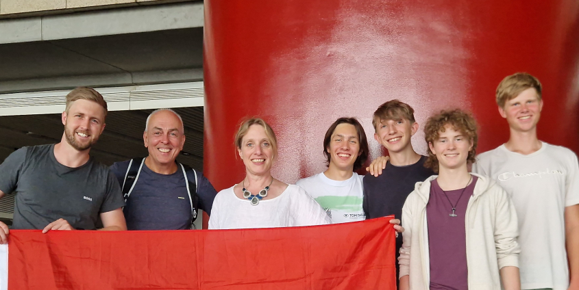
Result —
[[527, 73], [503, 79], [496, 101], [510, 138], [479, 155], [473, 172], [491, 176], [513, 199], [521, 289], [579, 289], [579, 165], [571, 150], [537, 138], [541, 90]]

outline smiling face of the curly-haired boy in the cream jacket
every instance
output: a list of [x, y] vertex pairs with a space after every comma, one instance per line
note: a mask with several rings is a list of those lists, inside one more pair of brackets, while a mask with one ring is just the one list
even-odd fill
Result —
[[446, 125], [444, 132], [439, 131], [438, 139], [429, 142], [428, 146], [439, 161], [439, 170], [456, 169], [462, 166], [466, 168], [473, 142], [462, 132], [455, 131], [451, 125]]

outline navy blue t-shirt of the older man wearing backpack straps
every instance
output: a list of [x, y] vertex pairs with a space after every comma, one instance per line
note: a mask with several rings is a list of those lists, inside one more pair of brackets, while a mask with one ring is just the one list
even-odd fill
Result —
[[[121, 187], [130, 161], [116, 162], [110, 170]], [[195, 183], [193, 172], [187, 172], [187, 179]], [[197, 172], [197, 207], [211, 213], [213, 199], [217, 192], [213, 185]], [[192, 192], [194, 188], [190, 188]], [[143, 164], [127, 205], [123, 209], [129, 230], [184, 230], [191, 226], [191, 203], [187, 193], [182, 170], [173, 174], [159, 174]]]

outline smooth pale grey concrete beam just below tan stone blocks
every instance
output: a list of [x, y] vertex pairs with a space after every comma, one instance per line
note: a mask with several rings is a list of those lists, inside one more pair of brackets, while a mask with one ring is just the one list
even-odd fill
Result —
[[203, 27], [202, 1], [0, 19], [0, 44]]

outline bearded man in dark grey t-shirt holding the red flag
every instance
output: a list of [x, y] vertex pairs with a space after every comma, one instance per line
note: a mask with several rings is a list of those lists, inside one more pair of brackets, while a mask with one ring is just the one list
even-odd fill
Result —
[[[66, 96], [64, 133], [58, 144], [24, 147], [0, 165], [0, 198], [16, 194], [14, 229], [126, 230], [121, 188], [106, 166], [88, 153], [105, 127], [101, 94], [76, 88]], [[0, 243], [8, 226], [0, 222]]]

